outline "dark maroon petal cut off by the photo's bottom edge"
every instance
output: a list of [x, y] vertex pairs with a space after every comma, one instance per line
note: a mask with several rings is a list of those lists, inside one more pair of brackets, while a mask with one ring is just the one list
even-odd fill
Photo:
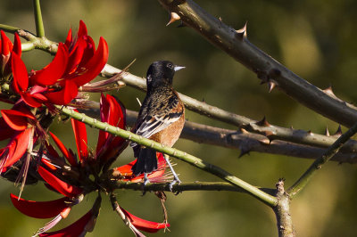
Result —
[[90, 221], [92, 220], [93, 217], [93, 212], [92, 209], [87, 212], [86, 215], [83, 217], [80, 217], [79, 220], [77, 220], [75, 223], [72, 225], [69, 225], [62, 230], [56, 231], [56, 232], [51, 232], [51, 233], [40, 233], [38, 234], [40, 237], [46, 237], [46, 236], [52, 236], [52, 237], [78, 237], [78, 236], [84, 236], [85, 233], [87, 233], [86, 226]]

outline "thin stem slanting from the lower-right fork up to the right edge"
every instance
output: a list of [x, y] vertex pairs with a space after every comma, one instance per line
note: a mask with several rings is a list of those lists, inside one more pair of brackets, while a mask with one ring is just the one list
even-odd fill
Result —
[[328, 150], [324, 152], [319, 159], [316, 159], [312, 164], [311, 167], [308, 168], [303, 176], [301, 176], [295, 184], [293, 184], [288, 190], [287, 193], [289, 194], [290, 198], [293, 199], [295, 195], [303, 190], [303, 187], [309, 183], [311, 176], [313, 176], [317, 170], [322, 168], [322, 166], [328, 162], [329, 159], [332, 159], [335, 154], [340, 150], [345, 142], [348, 141], [355, 133], [357, 133], [357, 123], [353, 125], [350, 129], [345, 132], [344, 135], [341, 135], [335, 143], [333, 143]]

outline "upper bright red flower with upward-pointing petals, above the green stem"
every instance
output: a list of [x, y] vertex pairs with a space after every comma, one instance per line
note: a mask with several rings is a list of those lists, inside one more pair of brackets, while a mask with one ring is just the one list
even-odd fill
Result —
[[12, 53], [12, 89], [21, 95], [21, 101], [31, 107], [42, 103], [68, 104], [78, 94], [79, 86], [94, 79], [108, 61], [108, 45], [103, 37], [95, 50], [93, 39], [87, 36], [83, 21], [79, 22], [76, 41], [72, 40], [71, 30], [64, 44], [44, 69], [27, 69], [18, 53]]

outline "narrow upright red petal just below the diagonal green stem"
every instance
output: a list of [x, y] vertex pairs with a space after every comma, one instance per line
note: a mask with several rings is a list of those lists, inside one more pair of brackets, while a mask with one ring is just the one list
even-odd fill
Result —
[[74, 137], [76, 138], [77, 151], [79, 154], [79, 159], [87, 159], [88, 148], [87, 148], [87, 129], [86, 125], [79, 120], [71, 119]]

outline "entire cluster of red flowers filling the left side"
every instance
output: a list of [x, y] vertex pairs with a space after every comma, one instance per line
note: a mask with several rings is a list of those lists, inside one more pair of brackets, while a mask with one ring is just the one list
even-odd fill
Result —
[[[107, 60], [108, 46], [104, 38], [99, 39], [95, 48], [94, 40], [87, 35], [86, 25], [80, 21], [78, 33], [72, 36], [70, 30], [65, 42], [59, 43], [53, 61], [44, 69], [28, 72], [21, 60], [19, 36], [15, 34], [12, 44], [1, 31], [0, 86], [7, 86], [7, 90], [0, 91], [0, 100], [11, 103], [12, 109], [1, 110], [0, 140], [9, 142], [0, 149], [0, 175], [13, 180], [12, 174], [15, 173], [16, 182], [22, 182], [22, 191], [30, 172], [36, 181], [43, 181], [49, 190], [63, 195], [61, 199], [49, 201], [24, 200], [21, 195], [10, 195], [15, 208], [23, 214], [35, 218], [53, 218], [37, 231], [39, 236], [83, 236], [91, 232], [99, 215], [101, 193], [113, 191], [105, 186], [108, 176], [116, 180], [143, 181], [143, 175], [134, 176], [131, 172], [137, 160], [109, 170], [112, 162], [128, 146], [125, 139], [100, 131], [96, 149], [92, 151], [87, 144], [86, 125], [71, 119], [76, 153], [48, 129], [58, 114], [56, 105], [71, 105], [73, 109], [79, 99], [79, 91], [90, 85], [89, 82], [101, 72]], [[100, 116], [102, 122], [126, 128], [125, 108], [112, 95], [102, 94]], [[166, 180], [165, 159], [161, 153], [157, 153], [157, 156], [159, 168], [148, 176], [151, 182]], [[90, 192], [96, 192], [98, 196], [87, 214], [62, 230], [48, 232], [68, 217], [71, 209]], [[139, 230], [154, 233], [169, 226], [167, 223], [136, 217], [116, 201], [112, 205], [116, 206], [117, 212], [137, 236], [143, 236]]]

